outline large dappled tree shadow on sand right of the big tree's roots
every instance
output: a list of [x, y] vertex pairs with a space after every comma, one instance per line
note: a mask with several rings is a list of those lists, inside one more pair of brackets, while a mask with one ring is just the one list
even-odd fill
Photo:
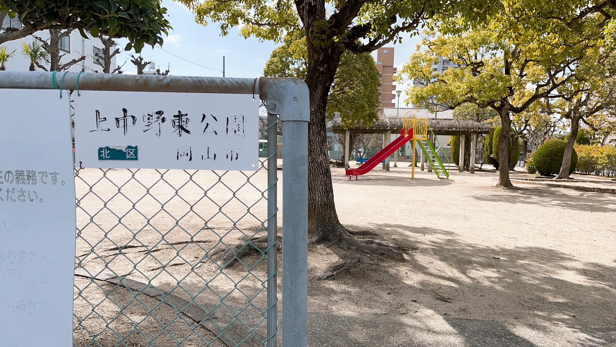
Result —
[[[357, 288], [352, 292], [350, 309], [345, 301], [347, 311], [395, 315], [402, 305], [403, 310], [416, 313], [411, 313], [410, 319], [430, 312], [447, 319], [567, 327], [572, 331], [566, 335], [568, 345], [537, 346], [616, 345], [614, 266], [580, 261], [556, 249], [477, 245], [448, 230], [381, 224], [374, 228], [387, 235], [387, 240], [400, 229], [428, 237], [408, 236], [408, 242], [418, 249], [408, 254], [405, 263], [380, 261], [367, 266], [359, 277], [345, 275], [334, 280], [334, 285], [312, 283], [309, 293], [315, 301], [344, 296], [344, 291]], [[339, 257], [347, 255], [336, 248], [331, 251]], [[335, 304], [330, 305], [335, 312]], [[485, 339], [496, 327], [476, 334], [468, 324], [455, 324], [450, 322], [449, 326], [464, 338], [466, 344], [461, 346], [531, 347], [540, 340], [528, 338], [531, 334], [519, 337], [521, 340], [508, 337], [508, 342], [498, 343], [497, 339], [490, 345]], [[501, 330], [505, 335], [516, 335], [509, 327]]]

